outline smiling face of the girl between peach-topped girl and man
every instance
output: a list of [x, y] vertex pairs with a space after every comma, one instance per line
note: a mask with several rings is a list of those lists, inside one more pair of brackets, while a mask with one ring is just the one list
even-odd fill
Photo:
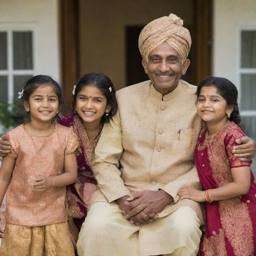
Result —
[[99, 124], [106, 110], [108, 110], [107, 99], [96, 86], [87, 85], [78, 92], [76, 112], [84, 124]]

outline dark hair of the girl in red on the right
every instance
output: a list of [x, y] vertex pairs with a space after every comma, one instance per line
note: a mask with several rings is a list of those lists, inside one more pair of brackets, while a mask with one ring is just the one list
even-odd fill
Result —
[[217, 88], [218, 93], [224, 98], [228, 104], [228, 106], [233, 106], [233, 111], [230, 114], [230, 122], [234, 122], [239, 126], [241, 122], [241, 117], [238, 110], [238, 91], [236, 86], [230, 82], [230, 80], [223, 77], [214, 77], [210, 76], [204, 79], [197, 87], [196, 95], [197, 98], [200, 95], [200, 90], [204, 86], [214, 86]]

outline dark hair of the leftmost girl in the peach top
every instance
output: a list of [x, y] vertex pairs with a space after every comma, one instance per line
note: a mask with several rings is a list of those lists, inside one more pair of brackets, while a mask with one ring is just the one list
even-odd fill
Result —
[[38, 87], [42, 85], [51, 85], [54, 89], [54, 92], [58, 96], [59, 100], [59, 110], [63, 105], [63, 96], [62, 96], [62, 89], [60, 85], [53, 80], [50, 76], [45, 75], [37, 75], [30, 78], [28, 81], [25, 82], [23, 85], [23, 92], [21, 95], [22, 102], [26, 102], [29, 100], [30, 94], [34, 92]]

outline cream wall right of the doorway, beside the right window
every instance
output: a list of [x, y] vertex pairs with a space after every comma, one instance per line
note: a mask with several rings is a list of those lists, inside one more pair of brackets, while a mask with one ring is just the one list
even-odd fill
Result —
[[256, 24], [256, 0], [214, 0], [213, 75], [238, 83], [238, 26]]

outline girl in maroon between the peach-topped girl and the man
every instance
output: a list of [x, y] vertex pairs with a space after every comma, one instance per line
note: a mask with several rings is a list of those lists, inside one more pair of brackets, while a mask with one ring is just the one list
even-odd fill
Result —
[[97, 184], [90, 163], [104, 123], [116, 114], [117, 101], [111, 80], [99, 73], [89, 73], [79, 78], [73, 95], [74, 116], [61, 116], [58, 122], [67, 127], [72, 126], [79, 139], [76, 150], [78, 177], [74, 184], [67, 186], [66, 192], [68, 215], [76, 225], [72, 225], [70, 218], [70, 229], [74, 240], [77, 240], [77, 231], [87, 215], [89, 197]]

